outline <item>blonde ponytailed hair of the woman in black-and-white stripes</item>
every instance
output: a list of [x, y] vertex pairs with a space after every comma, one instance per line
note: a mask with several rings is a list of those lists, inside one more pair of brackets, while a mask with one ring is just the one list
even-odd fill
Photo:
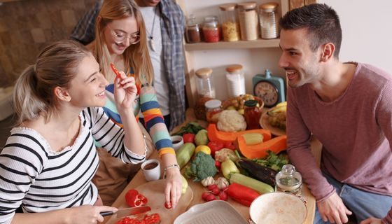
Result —
[[28, 66], [16, 81], [13, 106], [17, 125], [40, 115], [50, 119], [59, 106], [55, 87], [68, 88], [78, 65], [88, 55], [91, 53], [76, 41], [57, 41], [45, 47], [36, 64]]

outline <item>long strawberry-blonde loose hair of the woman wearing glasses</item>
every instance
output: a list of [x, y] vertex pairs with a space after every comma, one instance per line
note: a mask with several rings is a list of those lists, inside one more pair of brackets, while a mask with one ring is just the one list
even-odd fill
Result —
[[95, 48], [94, 57], [101, 66], [102, 73], [108, 80], [111, 74], [111, 57], [105, 43], [104, 29], [113, 20], [120, 20], [127, 17], [134, 17], [139, 27], [140, 42], [130, 45], [123, 53], [125, 68], [127, 73], [132, 68], [135, 77], [146, 84], [153, 83], [153, 65], [148, 54], [146, 27], [144, 20], [137, 5], [132, 0], [105, 0], [99, 11], [100, 21], [95, 26]]

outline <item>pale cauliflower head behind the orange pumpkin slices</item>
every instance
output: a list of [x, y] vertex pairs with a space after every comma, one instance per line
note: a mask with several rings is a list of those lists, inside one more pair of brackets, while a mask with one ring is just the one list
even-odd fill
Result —
[[222, 132], [241, 132], [246, 130], [246, 121], [238, 111], [225, 110], [219, 115], [216, 127]]

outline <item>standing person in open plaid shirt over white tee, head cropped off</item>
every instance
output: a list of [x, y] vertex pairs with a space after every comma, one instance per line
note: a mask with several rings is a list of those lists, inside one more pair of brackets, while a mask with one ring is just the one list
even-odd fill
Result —
[[[153, 86], [168, 130], [185, 120], [185, 70], [183, 32], [185, 18], [174, 0], [135, 0], [146, 24], [148, 51], [155, 73]], [[71, 33], [71, 39], [87, 46], [95, 39], [95, 22], [103, 0], [97, 0]], [[143, 122], [141, 120], [141, 122]]]

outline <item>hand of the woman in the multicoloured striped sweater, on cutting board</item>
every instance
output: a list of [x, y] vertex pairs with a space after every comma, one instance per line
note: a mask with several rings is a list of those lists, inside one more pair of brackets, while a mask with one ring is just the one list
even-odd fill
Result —
[[166, 171], [166, 188], [165, 188], [165, 200], [166, 203], [172, 204], [172, 208], [175, 208], [179, 203], [182, 192], [182, 180], [180, 169], [167, 169]]

